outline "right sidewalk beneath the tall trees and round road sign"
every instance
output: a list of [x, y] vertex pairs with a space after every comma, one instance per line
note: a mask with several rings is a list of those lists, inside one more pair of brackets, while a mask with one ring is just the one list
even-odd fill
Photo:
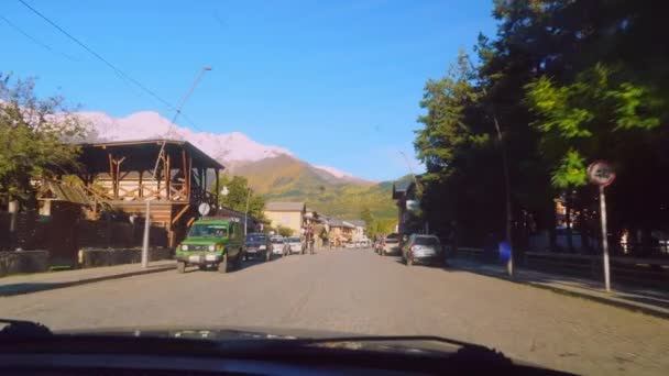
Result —
[[[502, 265], [481, 264], [459, 258], [449, 259], [449, 265], [458, 269], [509, 280], [506, 268]], [[621, 286], [613, 283], [612, 291], [606, 292], [603, 281], [518, 268], [515, 270], [514, 279], [509, 281], [669, 319], [669, 291]]]

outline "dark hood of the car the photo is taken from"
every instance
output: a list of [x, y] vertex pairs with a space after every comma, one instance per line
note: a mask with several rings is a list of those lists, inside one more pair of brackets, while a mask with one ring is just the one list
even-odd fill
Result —
[[[277, 329], [264, 327], [138, 327], [138, 328], [107, 328], [94, 330], [59, 330], [51, 331], [48, 328], [32, 321], [0, 319], [7, 325], [0, 330], [0, 344], [17, 343], [20, 341], [35, 341], [48, 339], [86, 340], [90, 338], [108, 343], [110, 338], [146, 338], [199, 340], [207, 349], [227, 349], [230, 351], [246, 352], [250, 349], [267, 351], [283, 350], [314, 350], [321, 347], [361, 351], [384, 352], [393, 354], [407, 354], [428, 357], [450, 357], [468, 362], [498, 362], [501, 365], [512, 364], [512, 360], [502, 353], [489, 347], [431, 335], [365, 335], [344, 332], [332, 332], [305, 329]], [[51, 342], [42, 342], [51, 343]], [[91, 342], [95, 343], [95, 342]], [[194, 346], [195, 344], [191, 344]], [[224, 347], [219, 347], [219, 346]], [[259, 345], [261, 347], [259, 347]], [[51, 345], [50, 345], [51, 346]], [[51, 349], [51, 347], [50, 347]], [[202, 349], [202, 347], [199, 347]], [[542, 368], [526, 362], [513, 361], [513, 364]], [[546, 369], [546, 368], [544, 368]]]

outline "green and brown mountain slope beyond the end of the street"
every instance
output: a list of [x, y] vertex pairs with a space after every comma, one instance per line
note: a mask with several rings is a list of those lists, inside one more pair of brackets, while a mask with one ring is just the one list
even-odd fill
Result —
[[286, 155], [234, 166], [229, 174], [246, 177], [267, 201], [305, 201], [312, 210], [343, 219], [359, 218], [365, 207], [377, 219], [397, 218], [392, 181], [338, 179]]

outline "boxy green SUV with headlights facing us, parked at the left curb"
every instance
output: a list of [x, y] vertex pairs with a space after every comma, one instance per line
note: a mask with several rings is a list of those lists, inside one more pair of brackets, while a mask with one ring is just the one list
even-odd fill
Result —
[[232, 266], [241, 266], [243, 247], [244, 234], [238, 219], [195, 221], [176, 248], [177, 272], [184, 273], [188, 265], [198, 265], [200, 269], [213, 265], [220, 273], [227, 273]]

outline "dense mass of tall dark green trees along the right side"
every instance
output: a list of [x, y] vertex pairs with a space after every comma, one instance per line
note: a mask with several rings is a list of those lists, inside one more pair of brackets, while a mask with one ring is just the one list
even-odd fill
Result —
[[596, 158], [617, 170], [607, 188], [613, 229], [649, 239], [669, 225], [669, 178], [657, 174], [669, 168], [669, 55], [658, 42], [669, 32], [652, 2], [498, 0], [493, 16], [497, 33], [480, 36], [478, 65], [461, 54], [426, 84], [415, 145], [430, 224], [448, 231], [452, 220], [465, 242], [498, 230], [503, 221], [490, 219], [504, 212], [503, 143], [516, 232], [555, 231], [553, 199], [563, 197], [581, 232], [594, 233], [585, 167]]

